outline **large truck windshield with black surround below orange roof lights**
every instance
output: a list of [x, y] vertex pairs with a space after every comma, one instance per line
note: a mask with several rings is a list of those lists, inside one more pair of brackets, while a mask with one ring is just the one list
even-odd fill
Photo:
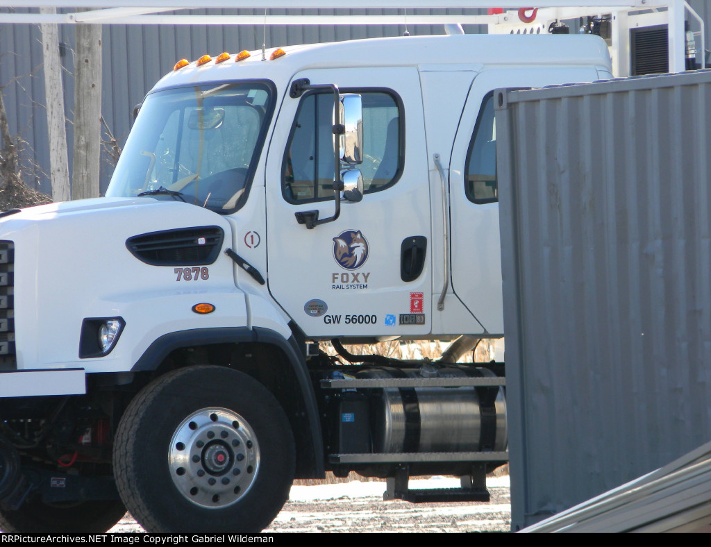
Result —
[[221, 213], [236, 210], [259, 157], [271, 106], [272, 92], [257, 82], [151, 93], [107, 197], [144, 195]]

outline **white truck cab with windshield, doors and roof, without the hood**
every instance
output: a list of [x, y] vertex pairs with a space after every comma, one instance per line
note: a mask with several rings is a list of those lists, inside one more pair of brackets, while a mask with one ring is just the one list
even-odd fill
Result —
[[[255, 308], [254, 325], [293, 321], [310, 340], [501, 336], [491, 93], [610, 77], [602, 40], [577, 38], [356, 40], [182, 67], [146, 97], [107, 196], [218, 213], [225, 246], [253, 270], [223, 253], [215, 266], [232, 266], [236, 288], [273, 316]], [[333, 91], [291, 97], [301, 80], [360, 102], [360, 157], [338, 170], [363, 194], [313, 229], [301, 215], [335, 207]], [[143, 265], [141, 278], [205, 281], [169, 266]]]

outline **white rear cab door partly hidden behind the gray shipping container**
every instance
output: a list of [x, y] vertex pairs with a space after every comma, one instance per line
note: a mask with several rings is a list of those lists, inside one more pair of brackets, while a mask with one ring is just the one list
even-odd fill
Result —
[[490, 335], [503, 335], [493, 90], [596, 79], [592, 66], [509, 66], [483, 70], [474, 78], [449, 166], [451, 284]]

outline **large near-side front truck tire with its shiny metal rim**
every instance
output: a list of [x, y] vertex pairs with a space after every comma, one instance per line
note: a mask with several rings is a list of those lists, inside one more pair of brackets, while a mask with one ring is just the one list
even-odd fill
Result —
[[149, 532], [259, 532], [289, 497], [294, 438], [277, 399], [247, 374], [189, 367], [146, 386], [114, 443], [126, 507]]

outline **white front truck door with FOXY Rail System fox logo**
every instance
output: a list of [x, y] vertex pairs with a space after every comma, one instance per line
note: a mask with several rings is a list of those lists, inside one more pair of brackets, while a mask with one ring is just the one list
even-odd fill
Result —
[[414, 68], [308, 70], [363, 104], [360, 202], [307, 229], [296, 214], [334, 212], [333, 92], [284, 99], [266, 173], [269, 291], [311, 337], [429, 332], [427, 154]]

